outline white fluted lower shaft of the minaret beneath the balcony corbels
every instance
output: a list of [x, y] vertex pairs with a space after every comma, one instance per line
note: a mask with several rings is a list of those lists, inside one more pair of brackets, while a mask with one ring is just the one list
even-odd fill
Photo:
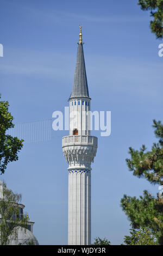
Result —
[[91, 171], [68, 171], [68, 245], [91, 244]]

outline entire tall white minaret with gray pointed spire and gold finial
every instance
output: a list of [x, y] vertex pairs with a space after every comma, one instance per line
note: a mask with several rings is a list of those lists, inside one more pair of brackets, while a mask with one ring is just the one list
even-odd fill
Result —
[[90, 135], [90, 103], [82, 26], [70, 102], [70, 135], [62, 137], [68, 163], [68, 245], [91, 245], [91, 162], [97, 137]]

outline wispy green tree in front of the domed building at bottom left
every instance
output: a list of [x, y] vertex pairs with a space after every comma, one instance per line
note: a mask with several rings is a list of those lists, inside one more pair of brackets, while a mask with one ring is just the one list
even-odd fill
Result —
[[[16, 239], [16, 227], [27, 228], [27, 216], [19, 212], [21, 194], [12, 192], [3, 182], [0, 198], [0, 245], [8, 245], [9, 236]], [[15, 231], [14, 231], [15, 230]]]

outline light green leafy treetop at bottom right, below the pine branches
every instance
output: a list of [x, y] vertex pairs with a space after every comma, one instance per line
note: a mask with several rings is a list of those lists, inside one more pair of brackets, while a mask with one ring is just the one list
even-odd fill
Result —
[[140, 229], [130, 229], [130, 236], [125, 236], [124, 243], [126, 245], [159, 245], [158, 236], [151, 229], [145, 227]]

